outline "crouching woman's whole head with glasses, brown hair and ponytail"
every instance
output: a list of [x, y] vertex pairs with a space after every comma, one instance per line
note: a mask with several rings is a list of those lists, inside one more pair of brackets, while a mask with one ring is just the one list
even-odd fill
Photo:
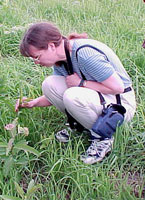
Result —
[[52, 23], [40, 22], [27, 30], [20, 44], [20, 52], [23, 56], [33, 58], [35, 64], [49, 67], [66, 59], [63, 40], [82, 38], [87, 38], [87, 34], [72, 33], [66, 38]]

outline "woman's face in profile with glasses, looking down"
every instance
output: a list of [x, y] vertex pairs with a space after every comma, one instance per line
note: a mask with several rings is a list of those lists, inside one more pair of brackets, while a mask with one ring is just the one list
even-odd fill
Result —
[[39, 50], [31, 45], [29, 51], [35, 64], [51, 67], [57, 62], [56, 47], [53, 43], [49, 44], [48, 48], [44, 50]]

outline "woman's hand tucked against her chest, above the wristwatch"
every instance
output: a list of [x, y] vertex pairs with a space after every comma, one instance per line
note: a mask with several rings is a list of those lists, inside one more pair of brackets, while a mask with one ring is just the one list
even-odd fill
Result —
[[66, 84], [69, 88], [78, 86], [80, 81], [81, 78], [76, 73], [66, 77]]

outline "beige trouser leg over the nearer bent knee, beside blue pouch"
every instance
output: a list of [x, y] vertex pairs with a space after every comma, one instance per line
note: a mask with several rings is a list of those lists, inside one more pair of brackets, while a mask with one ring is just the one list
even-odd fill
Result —
[[[90, 129], [101, 112], [102, 106], [95, 106], [91, 102], [89, 90], [79, 87], [72, 87], [65, 91], [63, 103], [67, 111], [85, 128]], [[90, 91], [92, 93], [92, 91]], [[96, 93], [95, 97], [96, 97]], [[96, 98], [94, 98], [96, 99]]]

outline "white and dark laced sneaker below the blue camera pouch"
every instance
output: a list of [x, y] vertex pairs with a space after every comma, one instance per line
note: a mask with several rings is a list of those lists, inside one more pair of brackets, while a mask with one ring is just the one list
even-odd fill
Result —
[[106, 138], [105, 140], [93, 140], [86, 151], [85, 155], [81, 156], [81, 160], [85, 164], [94, 164], [103, 160], [105, 155], [111, 151], [114, 137]]

